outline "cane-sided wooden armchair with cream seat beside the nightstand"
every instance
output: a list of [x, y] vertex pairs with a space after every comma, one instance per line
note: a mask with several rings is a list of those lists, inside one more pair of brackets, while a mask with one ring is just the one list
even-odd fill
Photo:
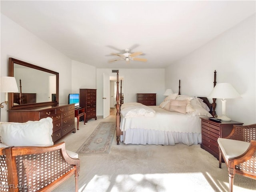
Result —
[[256, 179], [256, 124], [234, 125], [227, 138], [218, 138], [219, 167], [222, 157], [228, 167], [229, 191], [233, 191], [234, 175]]

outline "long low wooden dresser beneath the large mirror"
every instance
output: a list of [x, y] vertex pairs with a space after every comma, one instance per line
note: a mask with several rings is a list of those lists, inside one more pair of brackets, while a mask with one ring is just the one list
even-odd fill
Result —
[[51, 117], [53, 120], [53, 142], [68, 133], [76, 132], [75, 128], [75, 105], [58, 104], [56, 106], [35, 107], [21, 110], [9, 110], [9, 122], [38, 121], [42, 118]]

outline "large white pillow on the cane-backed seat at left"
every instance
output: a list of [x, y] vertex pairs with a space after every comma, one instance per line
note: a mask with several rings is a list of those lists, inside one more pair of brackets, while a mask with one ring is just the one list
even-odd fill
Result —
[[7, 146], [51, 146], [52, 118], [26, 123], [1, 122], [2, 144]]

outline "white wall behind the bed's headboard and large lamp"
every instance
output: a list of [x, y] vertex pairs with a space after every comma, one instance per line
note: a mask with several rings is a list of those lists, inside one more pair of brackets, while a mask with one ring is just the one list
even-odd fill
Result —
[[[251, 16], [171, 64], [165, 71], [166, 88], [178, 90], [180, 78], [181, 94], [208, 96], [213, 88], [216, 70], [217, 83], [231, 83], [242, 96], [241, 99], [228, 99], [227, 115], [244, 124], [256, 123], [255, 22], [255, 15]], [[216, 102], [216, 112], [220, 115], [220, 99]]]

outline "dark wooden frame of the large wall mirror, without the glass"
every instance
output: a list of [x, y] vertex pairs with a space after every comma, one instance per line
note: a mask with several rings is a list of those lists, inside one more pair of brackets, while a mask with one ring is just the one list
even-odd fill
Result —
[[42, 107], [42, 106], [54, 106], [58, 104], [59, 102], [59, 73], [48, 70], [46, 68], [42, 68], [40, 66], [36, 66], [24, 61], [20, 61], [14, 58], [9, 58], [9, 76], [13, 77], [14, 76], [14, 64], [19, 64], [22, 66], [26, 66], [29, 68], [33, 68], [36, 70], [40, 70], [43, 72], [48, 72], [51, 74], [56, 75], [56, 100], [55, 101], [50, 101], [50, 102], [39, 102], [39, 103], [28, 103], [28, 104], [20, 104], [20, 105], [14, 105], [14, 93], [8, 93], [8, 106], [9, 110], [16, 110], [16, 109], [24, 109], [24, 108], [34, 108], [34, 107]]

